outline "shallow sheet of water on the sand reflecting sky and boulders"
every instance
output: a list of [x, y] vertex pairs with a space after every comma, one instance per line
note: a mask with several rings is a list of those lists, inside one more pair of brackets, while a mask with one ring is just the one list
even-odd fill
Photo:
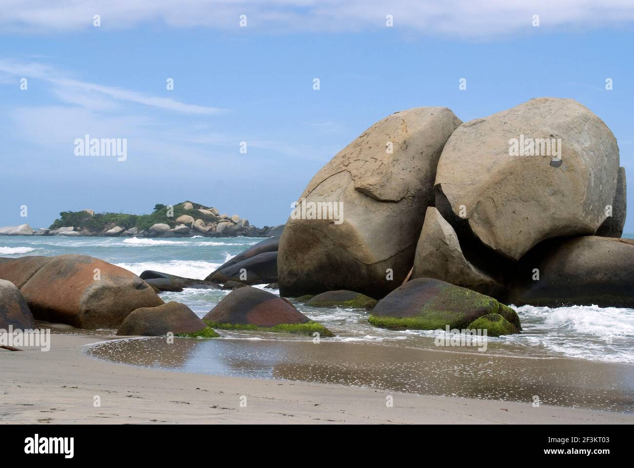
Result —
[[[634, 367], [571, 359], [452, 353], [368, 343], [268, 339], [128, 339], [87, 353], [198, 374], [302, 380], [381, 391], [634, 412]], [[538, 410], [538, 406], [535, 406]]]

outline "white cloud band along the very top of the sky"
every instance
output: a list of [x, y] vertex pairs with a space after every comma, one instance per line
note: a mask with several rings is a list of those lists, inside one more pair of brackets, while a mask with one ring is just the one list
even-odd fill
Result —
[[159, 21], [172, 27], [209, 27], [240, 34], [238, 17], [248, 28], [275, 32], [385, 29], [427, 35], [482, 37], [529, 30], [533, 15], [540, 27], [600, 27], [634, 20], [631, 0], [4, 0], [5, 30], [46, 32], [101, 27], [120, 29]]

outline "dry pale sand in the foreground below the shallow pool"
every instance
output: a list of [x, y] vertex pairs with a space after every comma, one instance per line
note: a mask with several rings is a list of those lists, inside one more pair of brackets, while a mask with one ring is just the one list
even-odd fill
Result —
[[[634, 415], [287, 380], [168, 372], [96, 360], [107, 335], [53, 334], [0, 350], [0, 422], [22, 424], [633, 424]], [[387, 407], [386, 396], [393, 397]], [[95, 396], [100, 407], [94, 406]], [[242, 398], [241, 398], [242, 397]], [[244, 398], [246, 397], [246, 398]], [[241, 406], [246, 401], [246, 406]]]

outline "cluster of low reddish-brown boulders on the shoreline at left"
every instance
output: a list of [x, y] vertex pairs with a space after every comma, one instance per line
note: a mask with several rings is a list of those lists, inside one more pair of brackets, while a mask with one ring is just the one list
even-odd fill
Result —
[[216, 283], [158, 271], [139, 277], [83, 255], [0, 258], [0, 329], [28, 330], [37, 320], [117, 329], [117, 335], [214, 338], [217, 328], [333, 336], [285, 299], [240, 284], [200, 319], [185, 304], [165, 303], [157, 292], [219, 289]]

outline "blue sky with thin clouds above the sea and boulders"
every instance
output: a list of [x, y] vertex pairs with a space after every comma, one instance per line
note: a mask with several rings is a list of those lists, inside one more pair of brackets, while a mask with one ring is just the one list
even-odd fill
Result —
[[[603, 119], [634, 186], [634, 1], [515, 3], [3, 0], [0, 226], [183, 200], [274, 226], [393, 112], [467, 121], [540, 96]], [[127, 159], [78, 157], [86, 134], [126, 138]]]

